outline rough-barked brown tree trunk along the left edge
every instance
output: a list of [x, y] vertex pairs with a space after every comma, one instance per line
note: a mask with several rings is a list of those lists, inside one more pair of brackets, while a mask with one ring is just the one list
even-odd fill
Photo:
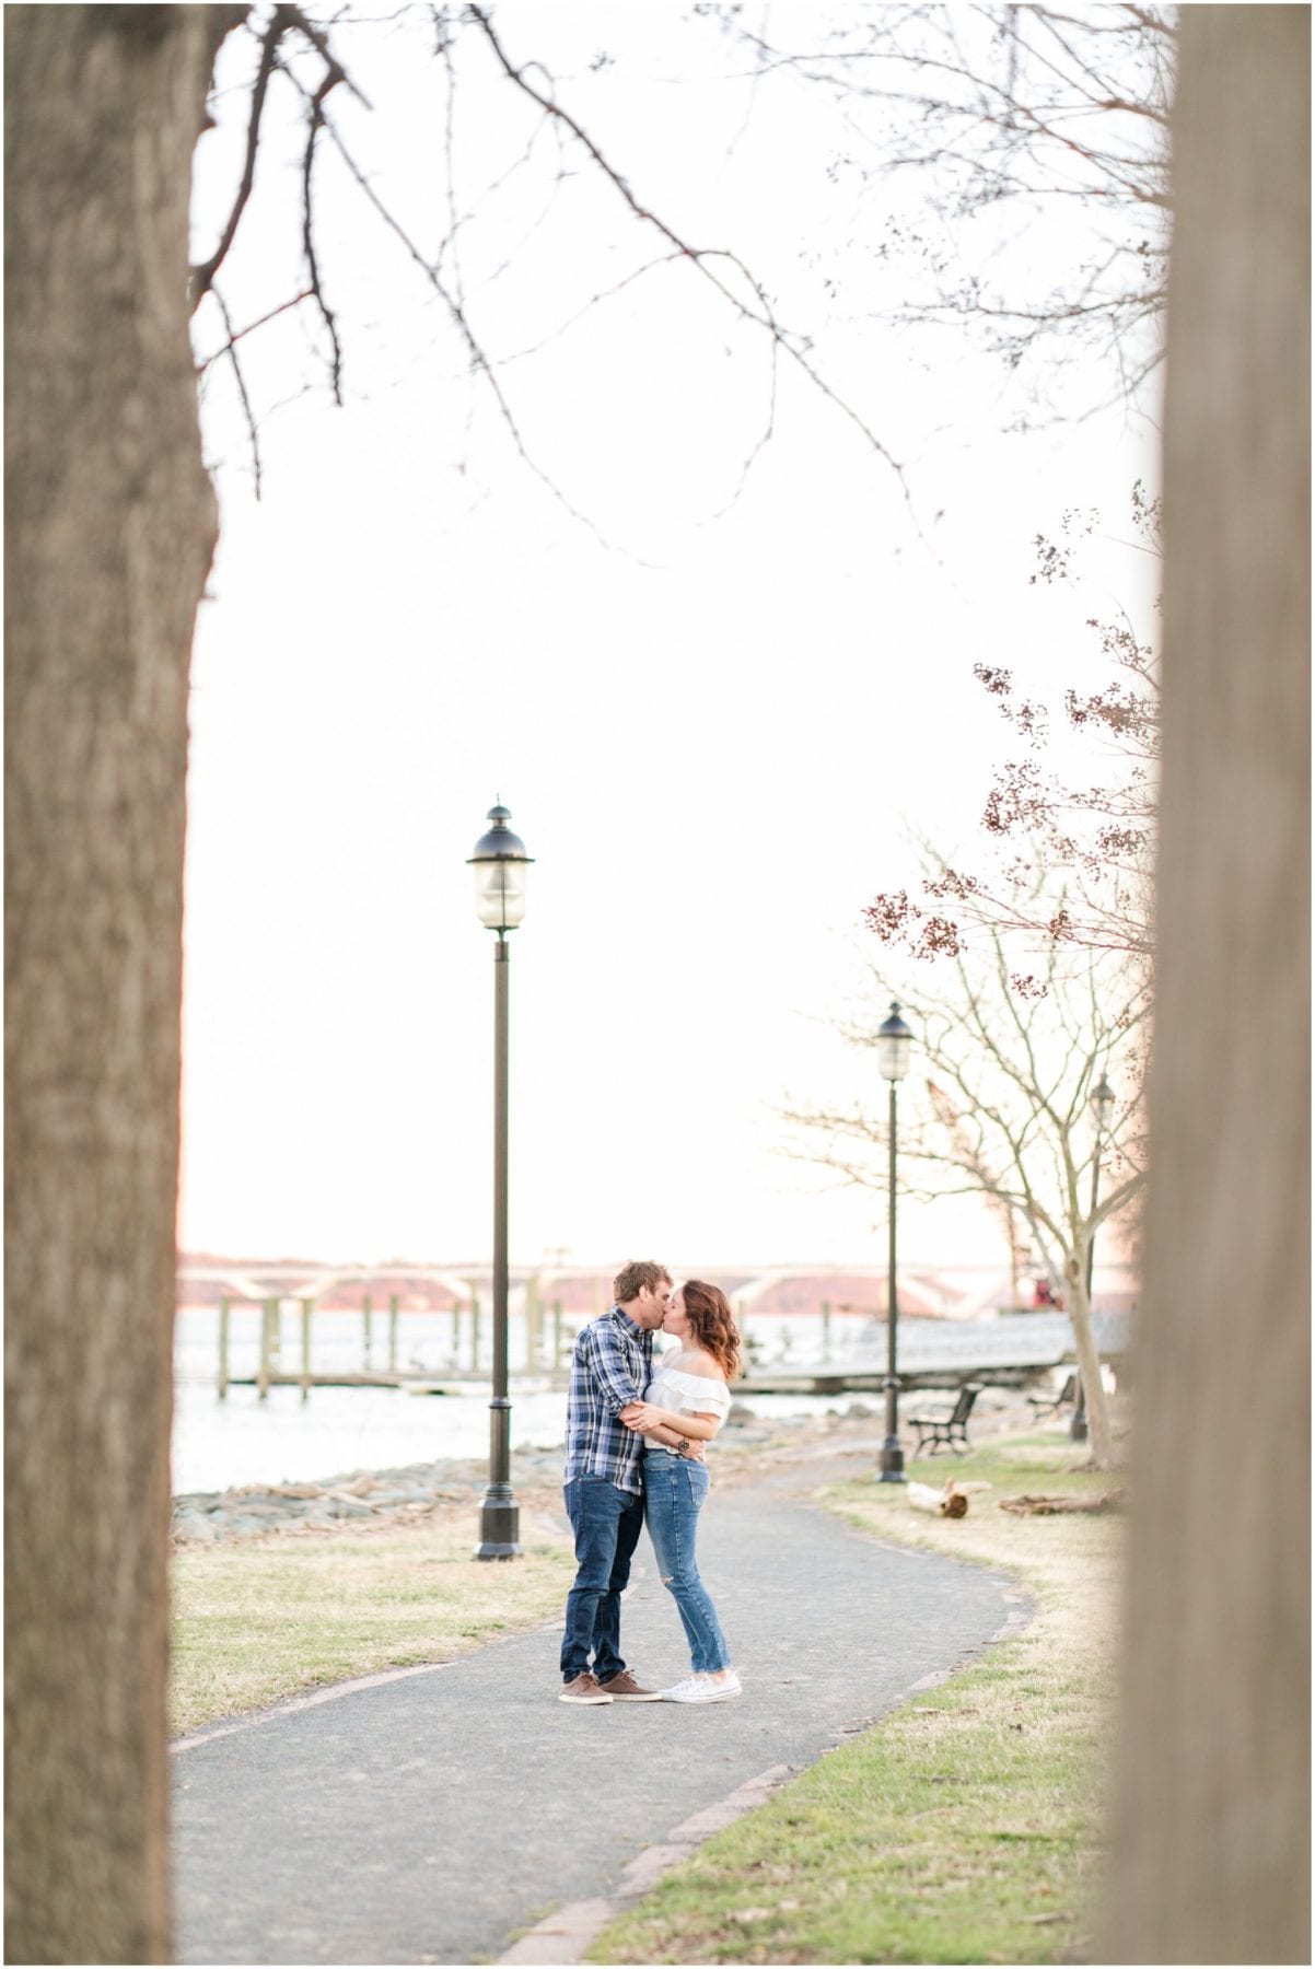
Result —
[[169, 1961], [187, 201], [232, 8], [6, 10], [8, 1961]]

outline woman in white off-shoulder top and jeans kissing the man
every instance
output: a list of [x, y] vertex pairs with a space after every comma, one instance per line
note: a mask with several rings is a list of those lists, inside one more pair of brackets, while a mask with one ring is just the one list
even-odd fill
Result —
[[628, 1428], [646, 1439], [644, 1518], [661, 1583], [675, 1599], [689, 1640], [691, 1674], [661, 1695], [671, 1703], [722, 1703], [744, 1691], [699, 1577], [699, 1512], [711, 1479], [707, 1463], [687, 1451], [695, 1441], [711, 1441], [726, 1420], [726, 1382], [740, 1372], [740, 1335], [726, 1294], [699, 1278], [671, 1294], [661, 1331], [681, 1345], [656, 1365], [644, 1400], [626, 1416]]

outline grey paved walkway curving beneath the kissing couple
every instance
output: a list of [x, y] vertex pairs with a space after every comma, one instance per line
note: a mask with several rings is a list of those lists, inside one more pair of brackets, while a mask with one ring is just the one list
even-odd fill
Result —
[[[537, 1628], [179, 1750], [177, 1959], [496, 1961], [555, 1906], [614, 1894], [642, 1847], [774, 1766], [803, 1770], [998, 1634], [1006, 1579], [860, 1538], [799, 1494], [817, 1481], [776, 1471], [705, 1510], [740, 1701], [571, 1709], [559, 1628]], [[648, 1538], [622, 1646], [650, 1683], [687, 1672]]]

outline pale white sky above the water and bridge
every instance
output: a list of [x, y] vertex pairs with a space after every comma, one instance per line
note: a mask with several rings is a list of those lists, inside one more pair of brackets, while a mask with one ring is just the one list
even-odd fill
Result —
[[[551, 51], [638, 197], [734, 244], [809, 329], [906, 484], [787, 362], [772, 406], [762, 335], [689, 262], [555, 333], [654, 258], [614, 187], [579, 156], [559, 183], [545, 138], [506, 177], [533, 122], [463, 55], [449, 209], [443, 65], [419, 26], [341, 32], [374, 108], [329, 106], [370, 187], [431, 258], [457, 213], [445, 280], [492, 354], [545, 345], [496, 370], [532, 463], [325, 152], [344, 406], [311, 309], [244, 339], [256, 500], [226, 364], [203, 392], [222, 536], [193, 667], [181, 1242], [488, 1254], [494, 937], [467, 857], [500, 797], [533, 857], [512, 937], [514, 1260], [872, 1262], [882, 1199], [785, 1154], [778, 1109], [848, 1099], [872, 1071], [829, 1022], [872, 955], [864, 902], [915, 872], [909, 835], [974, 841], [1008, 732], [972, 664], [1055, 693], [1098, 675], [1093, 595], [1146, 603], [1118, 545], [1087, 597], [1028, 577], [1065, 508], [1122, 520], [1132, 482], [1154, 486], [1154, 421], [1008, 435], [998, 370], [874, 319], [882, 221], [837, 181], [854, 140], [831, 98], [736, 79], [673, 6], [496, 20], [522, 57]], [[232, 195], [248, 67], [230, 41], [199, 244]], [[238, 325], [299, 291], [280, 83], [224, 270]], [[878, 189], [886, 221], [913, 211], [911, 187]], [[1035, 252], [1055, 244], [1041, 226]], [[207, 303], [197, 347], [220, 339]], [[972, 1205], [909, 1203], [902, 1225], [919, 1262], [1000, 1252]]]

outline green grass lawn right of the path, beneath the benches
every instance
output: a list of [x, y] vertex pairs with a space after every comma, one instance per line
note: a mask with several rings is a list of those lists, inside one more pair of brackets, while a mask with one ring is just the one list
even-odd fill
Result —
[[[823, 1502], [884, 1540], [1002, 1567], [1032, 1624], [892, 1711], [711, 1839], [591, 1961], [1047, 1963], [1081, 1959], [1100, 1857], [1122, 1520], [1014, 1518], [1020, 1491], [1102, 1491], [1035, 1433], [955, 1465], [967, 1518], [923, 1518], [872, 1481]], [[939, 1485], [949, 1459], [913, 1465]]]

